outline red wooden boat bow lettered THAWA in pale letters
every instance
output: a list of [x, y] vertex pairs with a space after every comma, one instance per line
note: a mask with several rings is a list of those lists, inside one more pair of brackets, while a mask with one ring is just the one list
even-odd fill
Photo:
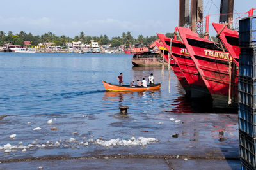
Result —
[[227, 57], [221, 50], [221, 46], [208, 39], [200, 38], [198, 34], [188, 28], [178, 27], [179, 34], [195, 63], [207, 89], [211, 93], [214, 108], [236, 108], [237, 107], [237, 68], [232, 67], [231, 98], [232, 104], [228, 104], [229, 60], [230, 53], [225, 50]]

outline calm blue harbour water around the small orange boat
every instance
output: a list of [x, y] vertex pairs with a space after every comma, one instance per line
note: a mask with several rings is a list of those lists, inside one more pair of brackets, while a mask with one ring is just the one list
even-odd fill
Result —
[[[202, 113], [211, 108], [184, 98], [175, 75], [161, 76], [161, 67], [133, 67], [132, 55], [74, 53], [0, 53], [0, 115], [129, 112]], [[106, 92], [102, 80], [125, 84], [154, 73], [161, 90], [154, 92]], [[199, 106], [198, 106], [199, 104]], [[203, 107], [204, 106], [204, 107]]]

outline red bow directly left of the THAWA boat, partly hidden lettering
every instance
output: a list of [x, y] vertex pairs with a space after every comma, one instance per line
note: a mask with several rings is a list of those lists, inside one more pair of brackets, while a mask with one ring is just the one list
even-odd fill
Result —
[[[170, 51], [171, 39], [164, 36], [164, 34], [157, 34], [157, 36], [161, 39], [167, 50]], [[184, 43], [177, 40], [172, 40], [171, 55], [180, 67], [186, 81], [189, 83], [189, 87], [191, 89], [191, 98], [211, 97], [209, 90], [198, 73], [195, 63], [191, 59]]]

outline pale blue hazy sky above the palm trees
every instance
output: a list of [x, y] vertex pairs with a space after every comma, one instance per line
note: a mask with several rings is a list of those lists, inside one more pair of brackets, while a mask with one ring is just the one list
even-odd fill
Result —
[[[204, 0], [204, 16], [218, 14], [220, 1]], [[250, 8], [256, 8], [255, 0], [234, 0], [234, 13]], [[25, 31], [34, 36], [53, 32], [74, 38], [83, 31], [86, 36], [106, 34], [111, 38], [130, 31], [136, 38], [173, 32], [178, 21], [179, 0], [12, 0], [1, 2], [0, 10], [1, 31]], [[218, 22], [218, 16], [210, 17], [210, 22]], [[210, 28], [211, 34], [215, 32]]]

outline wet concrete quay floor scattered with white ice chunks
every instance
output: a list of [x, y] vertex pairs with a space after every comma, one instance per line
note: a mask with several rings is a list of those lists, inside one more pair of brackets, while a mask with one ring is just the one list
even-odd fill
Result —
[[[50, 119], [52, 123], [48, 124]], [[102, 162], [102, 158], [108, 155], [113, 162], [116, 161], [115, 158], [122, 156], [162, 161], [164, 157], [172, 159], [179, 155], [183, 162], [184, 158], [188, 158], [188, 162], [192, 159], [239, 159], [236, 114], [164, 112], [131, 113], [127, 117], [120, 117], [118, 113], [20, 115], [4, 117], [0, 120], [0, 125], [0, 146], [8, 143], [14, 146], [8, 153], [6, 148], [0, 150], [0, 168], [6, 167], [6, 164], [10, 167], [26, 164], [25, 160], [28, 160], [28, 164], [33, 164], [29, 161], [50, 161], [54, 158], [81, 158], [88, 161], [95, 157], [101, 159], [98, 162]], [[36, 127], [40, 127], [40, 130], [33, 130]], [[57, 130], [51, 130], [52, 127]], [[12, 134], [16, 134], [13, 139], [10, 138]], [[108, 141], [119, 138], [121, 141], [129, 141], [132, 137], [156, 138], [157, 141], [146, 145], [117, 144], [109, 147], [95, 143], [97, 139]]]

